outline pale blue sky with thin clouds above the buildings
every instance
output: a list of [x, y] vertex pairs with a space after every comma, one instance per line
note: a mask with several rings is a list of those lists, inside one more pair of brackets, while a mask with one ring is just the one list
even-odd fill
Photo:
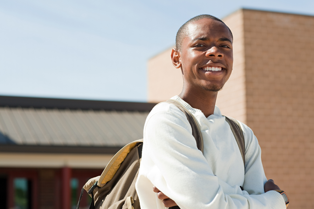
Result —
[[314, 1], [0, 1], [0, 95], [146, 101], [147, 60], [198, 14], [314, 15]]

